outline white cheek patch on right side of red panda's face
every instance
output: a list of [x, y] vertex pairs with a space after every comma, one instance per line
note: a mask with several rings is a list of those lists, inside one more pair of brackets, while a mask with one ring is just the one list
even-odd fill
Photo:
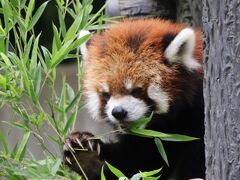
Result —
[[156, 103], [156, 113], [166, 113], [169, 109], [169, 96], [156, 85], [150, 85], [147, 89], [148, 97]]

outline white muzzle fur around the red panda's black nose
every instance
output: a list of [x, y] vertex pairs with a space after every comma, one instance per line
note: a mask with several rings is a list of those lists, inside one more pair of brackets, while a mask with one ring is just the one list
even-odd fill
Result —
[[128, 122], [133, 122], [144, 117], [148, 111], [147, 104], [141, 99], [137, 99], [130, 95], [120, 98], [111, 97], [105, 107], [105, 112], [109, 120], [113, 123], [118, 123], [118, 120], [112, 116], [112, 110], [116, 106], [121, 106], [127, 111], [127, 118], [125, 121]]

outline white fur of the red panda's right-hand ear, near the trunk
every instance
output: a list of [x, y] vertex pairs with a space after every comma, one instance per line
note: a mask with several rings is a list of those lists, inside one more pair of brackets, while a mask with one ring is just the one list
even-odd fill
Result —
[[170, 63], [183, 63], [189, 70], [195, 70], [201, 65], [193, 57], [194, 50], [195, 33], [193, 29], [185, 28], [169, 44], [164, 56]]

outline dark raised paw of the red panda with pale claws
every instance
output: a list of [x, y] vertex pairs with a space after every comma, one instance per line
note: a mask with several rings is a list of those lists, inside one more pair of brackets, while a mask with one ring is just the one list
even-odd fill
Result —
[[[94, 166], [102, 166], [103, 162], [99, 158], [102, 143], [93, 137], [89, 132], [73, 132], [65, 139], [63, 160], [66, 165], [79, 174], [82, 174], [81, 168], [88, 171]], [[95, 170], [99, 167], [96, 167]]]

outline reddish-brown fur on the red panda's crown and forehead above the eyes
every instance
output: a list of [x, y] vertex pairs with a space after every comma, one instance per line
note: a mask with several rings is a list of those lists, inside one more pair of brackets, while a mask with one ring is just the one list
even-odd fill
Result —
[[[161, 40], [167, 33], [177, 34], [186, 25], [158, 19], [124, 20], [111, 25], [101, 35], [95, 35], [88, 48], [85, 88], [101, 91], [101, 84], [110, 86], [111, 95], [126, 94], [123, 81], [131, 79], [133, 86], [159, 85], [171, 98], [179, 95], [188, 82], [179, 76], [178, 64], [164, 64]], [[202, 34], [196, 33], [195, 59], [202, 64]], [[202, 78], [203, 71], [198, 71]], [[191, 98], [194, 87], [185, 92]]]

